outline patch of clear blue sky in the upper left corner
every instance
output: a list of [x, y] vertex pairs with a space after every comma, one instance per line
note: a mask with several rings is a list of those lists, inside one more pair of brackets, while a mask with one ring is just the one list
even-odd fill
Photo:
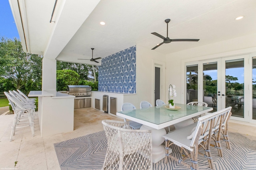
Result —
[[8, 0], [0, 2], [0, 37], [20, 39]]

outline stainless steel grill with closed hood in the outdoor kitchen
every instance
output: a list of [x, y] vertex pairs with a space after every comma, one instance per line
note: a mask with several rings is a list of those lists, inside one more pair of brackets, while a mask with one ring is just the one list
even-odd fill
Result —
[[69, 85], [68, 94], [72, 96], [92, 96], [91, 86]]

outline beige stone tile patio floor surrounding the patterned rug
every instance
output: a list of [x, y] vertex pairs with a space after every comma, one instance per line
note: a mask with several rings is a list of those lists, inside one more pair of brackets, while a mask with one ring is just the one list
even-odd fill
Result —
[[[0, 170], [60, 170], [54, 143], [103, 131], [103, 119], [122, 120], [96, 109], [76, 109], [74, 111], [74, 131], [49, 137], [40, 137], [38, 119], [35, 120], [35, 136], [29, 127], [16, 131], [10, 142], [11, 124], [14, 115], [0, 115]], [[230, 121], [229, 131], [256, 137], [256, 126]], [[16, 166], [15, 161], [18, 161]]]

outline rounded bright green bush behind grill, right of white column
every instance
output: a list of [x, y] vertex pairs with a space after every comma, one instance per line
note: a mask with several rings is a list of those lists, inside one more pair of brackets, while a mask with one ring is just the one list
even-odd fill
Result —
[[79, 74], [73, 70], [57, 70], [57, 91], [66, 91], [68, 85], [77, 85], [79, 77]]

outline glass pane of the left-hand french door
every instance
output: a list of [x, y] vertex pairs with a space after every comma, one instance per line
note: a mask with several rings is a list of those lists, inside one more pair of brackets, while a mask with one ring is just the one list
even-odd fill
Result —
[[217, 62], [203, 64], [204, 102], [217, 111]]

